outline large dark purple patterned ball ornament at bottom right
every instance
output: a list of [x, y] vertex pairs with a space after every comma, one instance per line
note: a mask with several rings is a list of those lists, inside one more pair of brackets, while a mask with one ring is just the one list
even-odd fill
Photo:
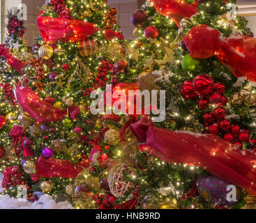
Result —
[[[232, 189], [227, 190], [227, 186], [232, 185], [226, 180], [218, 178], [218, 176], [199, 176], [197, 178], [197, 192], [205, 201], [209, 201], [213, 205], [232, 206], [236, 201], [227, 201], [227, 194]], [[239, 201], [241, 188], [236, 186], [236, 200]]]

